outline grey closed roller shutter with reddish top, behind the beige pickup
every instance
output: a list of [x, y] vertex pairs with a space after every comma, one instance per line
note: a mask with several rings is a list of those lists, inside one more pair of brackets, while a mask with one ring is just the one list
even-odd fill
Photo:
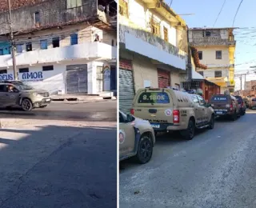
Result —
[[129, 114], [134, 100], [134, 74], [132, 62], [119, 60], [119, 109]]

